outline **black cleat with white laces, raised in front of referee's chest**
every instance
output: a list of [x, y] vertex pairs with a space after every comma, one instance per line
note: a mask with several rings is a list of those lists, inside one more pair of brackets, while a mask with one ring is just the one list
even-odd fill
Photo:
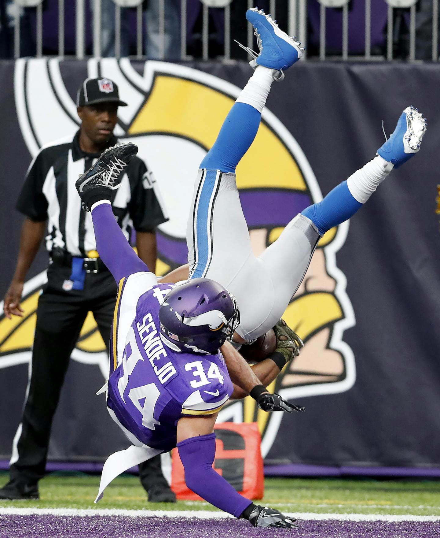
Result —
[[95, 164], [76, 181], [83, 209], [90, 211], [95, 202], [110, 200], [120, 187], [121, 174], [138, 153], [138, 146], [128, 142], [109, 147]]

